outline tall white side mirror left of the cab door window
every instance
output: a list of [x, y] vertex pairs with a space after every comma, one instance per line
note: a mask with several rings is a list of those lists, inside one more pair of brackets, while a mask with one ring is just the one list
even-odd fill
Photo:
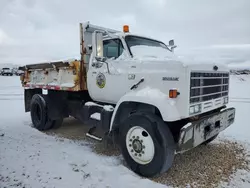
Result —
[[102, 33], [95, 31], [92, 34], [92, 50], [95, 57], [103, 57], [103, 38]]

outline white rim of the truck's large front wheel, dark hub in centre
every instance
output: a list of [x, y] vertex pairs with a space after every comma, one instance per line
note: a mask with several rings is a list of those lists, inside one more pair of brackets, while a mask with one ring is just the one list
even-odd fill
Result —
[[148, 164], [154, 158], [155, 147], [153, 139], [140, 126], [129, 129], [126, 136], [126, 147], [130, 157], [139, 164]]

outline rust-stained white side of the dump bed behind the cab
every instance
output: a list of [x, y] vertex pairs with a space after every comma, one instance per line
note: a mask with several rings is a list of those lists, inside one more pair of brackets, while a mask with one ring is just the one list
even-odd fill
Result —
[[80, 65], [79, 60], [69, 60], [19, 67], [24, 71], [22, 85], [26, 89], [86, 90], [86, 71]]

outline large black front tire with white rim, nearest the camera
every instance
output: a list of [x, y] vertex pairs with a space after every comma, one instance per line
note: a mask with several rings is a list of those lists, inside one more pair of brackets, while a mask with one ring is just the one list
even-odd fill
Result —
[[122, 155], [135, 173], [152, 177], [172, 166], [174, 138], [155, 114], [134, 113], [122, 123], [119, 132]]

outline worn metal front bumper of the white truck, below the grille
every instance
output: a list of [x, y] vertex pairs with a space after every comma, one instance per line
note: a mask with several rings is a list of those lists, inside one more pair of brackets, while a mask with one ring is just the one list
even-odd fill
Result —
[[229, 127], [235, 119], [235, 108], [227, 108], [203, 117], [181, 128], [176, 152], [190, 150]]

